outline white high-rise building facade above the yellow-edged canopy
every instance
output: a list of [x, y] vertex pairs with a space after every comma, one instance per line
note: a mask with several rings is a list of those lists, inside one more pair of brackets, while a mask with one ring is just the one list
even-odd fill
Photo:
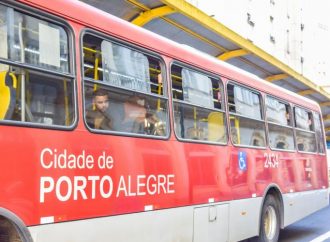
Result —
[[330, 91], [327, 0], [187, 0]]

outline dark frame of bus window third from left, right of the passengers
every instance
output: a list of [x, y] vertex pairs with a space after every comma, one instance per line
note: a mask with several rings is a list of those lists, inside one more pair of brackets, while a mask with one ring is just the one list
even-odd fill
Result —
[[[172, 66], [173, 65], [176, 65], [176, 66], [179, 66], [181, 68], [186, 68], [190, 71], [194, 71], [194, 72], [197, 72], [199, 74], [202, 74], [202, 75], [205, 75], [205, 76], [208, 76], [210, 78], [213, 78], [215, 80], [218, 81], [219, 83], [219, 87], [222, 87], [222, 93], [221, 93], [221, 106], [222, 108], [221, 109], [216, 109], [216, 108], [207, 108], [205, 106], [202, 106], [202, 105], [196, 105], [196, 104], [193, 104], [193, 103], [189, 103], [189, 102], [185, 102], [183, 100], [174, 100], [173, 98], [173, 85], [172, 85]], [[176, 139], [180, 142], [184, 142], [184, 143], [197, 143], [197, 144], [209, 144], [209, 145], [220, 145], [220, 146], [226, 146], [228, 145], [228, 141], [229, 141], [229, 133], [228, 133], [228, 124], [227, 124], [227, 115], [226, 115], [226, 107], [225, 107], [225, 83], [223, 81], [224, 78], [222, 78], [219, 74], [215, 74], [211, 71], [207, 71], [205, 69], [202, 69], [200, 67], [196, 67], [194, 65], [191, 65], [191, 64], [188, 64], [188, 63], [185, 63], [185, 62], [182, 62], [182, 61], [179, 61], [179, 60], [176, 60], [176, 59], [173, 59], [170, 64], [169, 64], [169, 96], [171, 98], [171, 109], [172, 109], [172, 127], [173, 127], [173, 133], [176, 137]], [[174, 113], [174, 102], [177, 102], [177, 103], [180, 103], [180, 104], [184, 104], [184, 105], [187, 105], [187, 106], [191, 106], [191, 107], [197, 107], [197, 108], [202, 108], [204, 110], [212, 110], [212, 111], [215, 111], [215, 112], [219, 112], [219, 113], [222, 113], [224, 115], [224, 130], [225, 130], [225, 138], [226, 138], [226, 142], [213, 142], [213, 141], [208, 141], [208, 140], [198, 140], [198, 139], [188, 139], [188, 138], [180, 138], [177, 133], [175, 132], [175, 113]]]

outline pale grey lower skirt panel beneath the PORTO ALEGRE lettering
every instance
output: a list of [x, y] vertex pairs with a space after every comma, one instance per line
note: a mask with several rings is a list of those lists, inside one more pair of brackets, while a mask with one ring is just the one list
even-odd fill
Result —
[[118, 215], [30, 227], [34, 242], [193, 241], [193, 208]]

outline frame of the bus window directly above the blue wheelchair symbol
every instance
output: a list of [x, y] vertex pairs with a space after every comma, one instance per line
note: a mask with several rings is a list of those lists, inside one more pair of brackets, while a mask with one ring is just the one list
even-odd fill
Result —
[[[258, 94], [258, 97], [259, 97], [259, 101], [260, 101], [260, 114], [261, 114], [261, 119], [256, 119], [256, 118], [252, 118], [252, 117], [248, 117], [248, 116], [244, 116], [244, 115], [241, 115], [241, 114], [237, 114], [237, 113], [234, 113], [234, 112], [230, 112], [229, 111], [229, 96], [228, 96], [228, 85], [233, 85], [233, 86], [239, 86], [239, 87], [243, 87], [245, 89], [248, 89], [250, 90], [251, 92], [254, 92], [256, 94]], [[235, 81], [233, 79], [228, 79], [228, 82], [226, 84], [226, 109], [227, 109], [227, 119], [228, 121], [230, 120], [230, 115], [233, 115], [233, 116], [236, 116], [236, 117], [242, 117], [242, 118], [245, 118], [245, 119], [249, 119], [249, 120], [254, 120], [254, 121], [258, 121], [258, 122], [262, 122], [264, 124], [264, 131], [265, 131], [265, 146], [253, 146], [253, 145], [240, 145], [240, 144], [235, 144], [231, 138], [231, 135], [229, 135], [229, 139], [230, 139], [230, 142], [231, 144], [234, 146], [234, 147], [237, 147], [237, 148], [250, 148], [250, 149], [257, 149], [257, 150], [267, 150], [268, 147], [269, 147], [269, 143], [268, 143], [268, 129], [267, 129], [267, 125], [266, 125], [266, 116], [265, 116], [265, 98], [264, 98], [264, 95], [265, 93], [261, 92], [260, 90], [256, 89], [256, 88], [253, 88], [253, 87], [250, 87], [248, 85], [245, 85], [245, 84], [242, 84], [238, 81]], [[230, 121], [229, 121], [230, 122]], [[228, 129], [229, 129], [229, 134], [231, 134], [231, 125], [229, 123], [228, 125]]]

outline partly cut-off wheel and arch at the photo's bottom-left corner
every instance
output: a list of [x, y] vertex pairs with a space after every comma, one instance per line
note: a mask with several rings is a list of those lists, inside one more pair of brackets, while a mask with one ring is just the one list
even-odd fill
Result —
[[2, 208], [0, 208], [0, 241], [32, 242], [32, 237], [22, 220]]

